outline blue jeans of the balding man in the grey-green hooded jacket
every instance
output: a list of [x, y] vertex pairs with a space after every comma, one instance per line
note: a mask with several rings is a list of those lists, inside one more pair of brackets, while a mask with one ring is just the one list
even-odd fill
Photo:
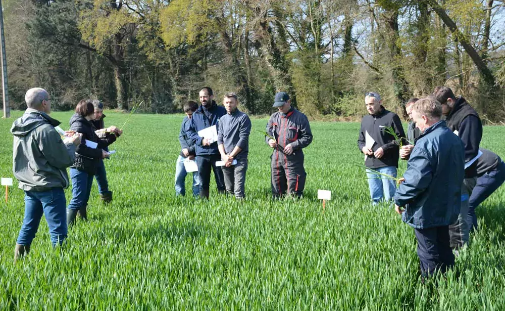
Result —
[[67, 200], [62, 188], [48, 191], [25, 191], [25, 217], [19, 231], [17, 243], [29, 246], [40, 224], [42, 214], [45, 216], [53, 246], [62, 244], [67, 238]]

